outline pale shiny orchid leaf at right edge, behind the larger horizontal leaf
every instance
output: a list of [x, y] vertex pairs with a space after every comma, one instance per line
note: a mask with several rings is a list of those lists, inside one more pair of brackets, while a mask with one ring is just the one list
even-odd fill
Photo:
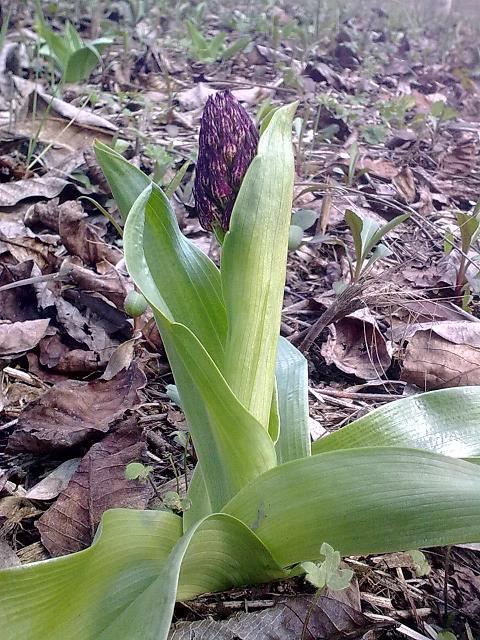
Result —
[[391, 402], [312, 444], [312, 453], [412, 447], [453, 458], [480, 456], [480, 387], [421, 393]]

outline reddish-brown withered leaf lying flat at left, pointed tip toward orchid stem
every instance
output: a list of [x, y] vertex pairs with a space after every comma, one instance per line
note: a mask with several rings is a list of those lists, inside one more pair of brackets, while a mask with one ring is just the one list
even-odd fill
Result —
[[23, 411], [8, 450], [50, 453], [90, 443], [137, 406], [137, 392], [145, 384], [135, 363], [112, 380], [59, 382]]

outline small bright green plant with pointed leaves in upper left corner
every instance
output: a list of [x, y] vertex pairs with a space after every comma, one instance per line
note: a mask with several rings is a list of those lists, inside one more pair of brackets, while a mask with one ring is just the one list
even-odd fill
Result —
[[53, 61], [61, 75], [62, 83], [88, 80], [92, 72], [101, 64], [101, 54], [105, 47], [112, 44], [111, 38], [99, 38], [84, 42], [71, 22], [67, 21], [63, 34], [51, 29], [37, 2], [37, 31], [44, 44], [40, 55]]

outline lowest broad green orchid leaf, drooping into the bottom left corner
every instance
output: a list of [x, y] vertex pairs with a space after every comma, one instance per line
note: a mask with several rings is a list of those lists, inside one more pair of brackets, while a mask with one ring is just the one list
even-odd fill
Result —
[[181, 537], [170, 512], [114, 509], [89, 549], [0, 571], [2, 640], [163, 640], [176, 598], [287, 575], [230, 516]]

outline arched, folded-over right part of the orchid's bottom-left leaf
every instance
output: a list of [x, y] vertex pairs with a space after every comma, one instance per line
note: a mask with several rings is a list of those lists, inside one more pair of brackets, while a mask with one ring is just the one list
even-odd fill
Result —
[[214, 514], [180, 538], [157, 579], [95, 640], [166, 640], [175, 599], [287, 575], [248, 527]]

